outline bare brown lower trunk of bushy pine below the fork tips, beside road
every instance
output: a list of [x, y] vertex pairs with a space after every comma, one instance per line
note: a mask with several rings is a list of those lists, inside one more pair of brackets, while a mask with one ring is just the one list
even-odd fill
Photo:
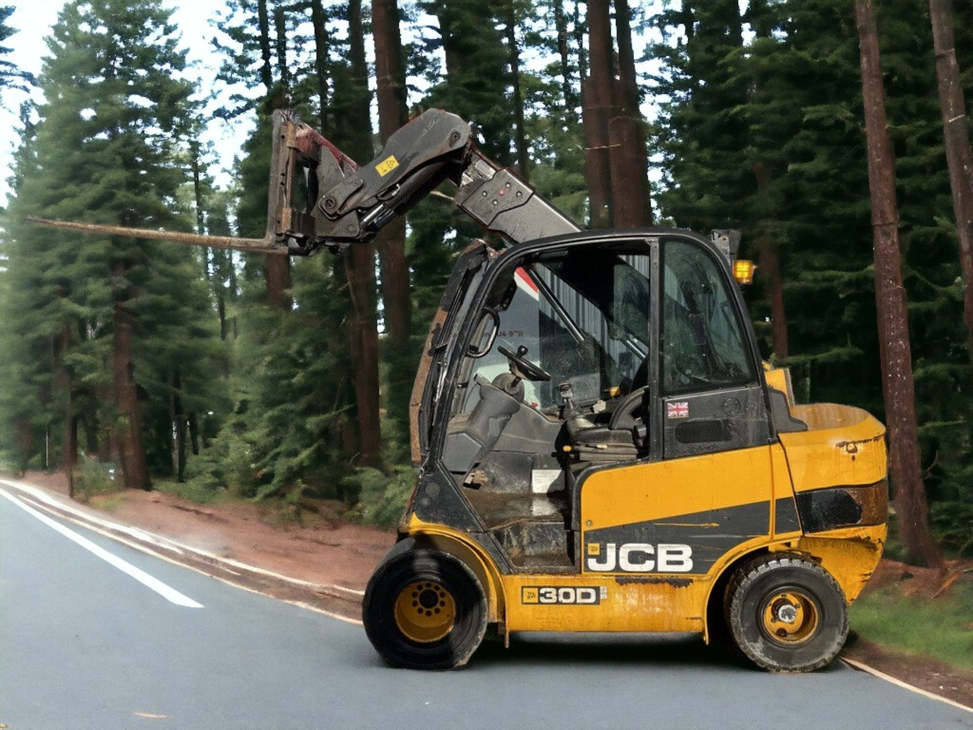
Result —
[[[115, 264], [112, 275], [124, 278], [124, 264]], [[115, 431], [118, 437], [119, 456], [122, 462], [122, 475], [128, 489], [151, 490], [149, 466], [142, 444], [142, 404], [138, 400], [135, 385], [135, 365], [131, 360], [131, 338], [134, 316], [126, 309], [130, 294], [115, 301], [112, 316], [112, 349], [114, 352], [115, 407], [118, 422]]]

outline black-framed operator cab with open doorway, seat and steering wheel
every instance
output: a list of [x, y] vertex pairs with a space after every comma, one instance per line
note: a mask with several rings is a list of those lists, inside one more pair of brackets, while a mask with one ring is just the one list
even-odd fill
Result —
[[591, 238], [496, 256], [464, 303], [441, 460], [515, 569], [577, 565], [591, 470], [769, 439], [739, 292], [712, 245]]

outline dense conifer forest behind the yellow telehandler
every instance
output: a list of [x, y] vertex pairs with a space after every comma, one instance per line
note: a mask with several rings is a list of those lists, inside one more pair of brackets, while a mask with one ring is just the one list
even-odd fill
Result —
[[[939, 547], [968, 557], [973, 270], [942, 54], [925, 3], [877, 6], [919, 490]], [[229, 0], [213, 20], [219, 77], [250, 91], [215, 112], [185, 80], [199, 29], [158, 0], [66, 3], [36, 78], [5, 60], [12, 11], [0, 8], [0, 87], [43, 92], [20, 110], [0, 216], [0, 449], [18, 470], [66, 470], [82, 493], [164, 482], [200, 500], [300, 511], [339, 498], [363, 520], [398, 519], [419, 349], [455, 256], [482, 235], [449, 201], [423, 201], [374, 247], [290, 262], [23, 220], [260, 237], [270, 112], [284, 106], [362, 163], [416, 113], [446, 108], [592, 227], [741, 230], [764, 356], [791, 368], [799, 400], [885, 418], [852, 0]], [[950, 25], [970, 91], [973, 4]], [[201, 141], [207, 115], [256, 122], [228, 184]]]

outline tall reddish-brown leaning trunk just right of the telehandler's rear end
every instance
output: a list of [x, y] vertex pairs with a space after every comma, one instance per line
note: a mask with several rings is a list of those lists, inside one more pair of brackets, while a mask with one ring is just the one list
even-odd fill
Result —
[[928, 524], [925, 487], [919, 468], [916, 388], [906, 292], [899, 251], [899, 211], [895, 201], [895, 156], [885, 119], [885, 91], [879, 33], [871, 0], [855, 0], [861, 47], [861, 83], [868, 142], [868, 181], [872, 198], [875, 250], [875, 298], [879, 320], [888, 467], [895, 492], [895, 511], [908, 558], [930, 567], [943, 557]]

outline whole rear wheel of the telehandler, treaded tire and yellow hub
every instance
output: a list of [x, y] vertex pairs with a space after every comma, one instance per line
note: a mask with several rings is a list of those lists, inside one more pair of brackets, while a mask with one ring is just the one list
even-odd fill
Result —
[[773, 672], [812, 672], [845, 645], [847, 602], [816, 563], [769, 555], [742, 566], [727, 591], [727, 624], [739, 650]]

